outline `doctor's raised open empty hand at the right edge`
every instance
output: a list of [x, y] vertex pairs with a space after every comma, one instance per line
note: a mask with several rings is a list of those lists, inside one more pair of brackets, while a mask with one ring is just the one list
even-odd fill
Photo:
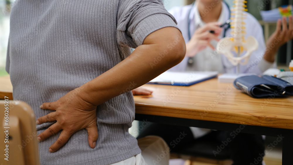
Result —
[[268, 39], [264, 59], [269, 62], [275, 61], [275, 55], [278, 49], [293, 39], [293, 16], [289, 16], [289, 26], [287, 26], [287, 18], [284, 16], [277, 21], [275, 32]]

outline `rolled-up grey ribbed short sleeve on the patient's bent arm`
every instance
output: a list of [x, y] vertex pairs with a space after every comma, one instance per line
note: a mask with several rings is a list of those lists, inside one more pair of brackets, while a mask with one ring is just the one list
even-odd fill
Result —
[[124, 0], [117, 13], [117, 43], [136, 48], [156, 30], [177, 27], [175, 18], [159, 0]]

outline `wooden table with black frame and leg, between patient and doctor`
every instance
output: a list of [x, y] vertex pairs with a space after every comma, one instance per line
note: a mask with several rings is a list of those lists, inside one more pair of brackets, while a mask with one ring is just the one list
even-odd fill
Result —
[[189, 87], [146, 84], [151, 96], [134, 96], [135, 120], [239, 131], [283, 139], [282, 164], [293, 164], [293, 97], [251, 98], [211, 79]]

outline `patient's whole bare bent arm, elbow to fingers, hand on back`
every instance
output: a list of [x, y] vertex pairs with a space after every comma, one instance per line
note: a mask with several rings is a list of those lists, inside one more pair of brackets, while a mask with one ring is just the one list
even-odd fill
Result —
[[[170, 43], [173, 45], [172, 49]], [[164, 57], [160, 53], [164, 53]], [[112, 69], [57, 101], [43, 103], [40, 108], [55, 111], [38, 118], [37, 124], [55, 120], [57, 122], [38, 135], [38, 139], [45, 140], [62, 130], [58, 140], [49, 148], [50, 152], [55, 152], [76, 131], [86, 128], [89, 145], [94, 148], [98, 139], [97, 105], [126, 92], [130, 86], [135, 89], [147, 83], [178, 64], [184, 56], [185, 42], [178, 29], [167, 27], [151, 33], [145, 38], [143, 45]], [[160, 60], [154, 64], [154, 59]]]

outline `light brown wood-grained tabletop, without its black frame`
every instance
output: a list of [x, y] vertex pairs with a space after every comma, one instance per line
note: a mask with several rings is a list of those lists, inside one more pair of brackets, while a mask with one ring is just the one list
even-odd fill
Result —
[[[9, 76], [0, 77], [0, 99], [12, 97]], [[192, 86], [146, 84], [150, 96], [134, 96], [136, 113], [293, 129], [293, 97], [251, 98], [232, 84], [207, 80]]]

